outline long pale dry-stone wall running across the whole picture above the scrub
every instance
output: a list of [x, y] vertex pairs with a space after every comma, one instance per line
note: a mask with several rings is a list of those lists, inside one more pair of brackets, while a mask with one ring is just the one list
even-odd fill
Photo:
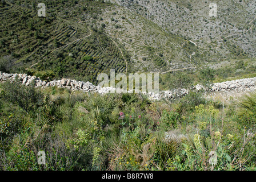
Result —
[[[42, 81], [40, 78], [35, 76], [29, 76], [24, 74], [17, 73], [2, 73], [0, 72], [0, 81], [6, 80], [15, 80], [21, 82], [23, 85], [32, 85], [36, 88], [46, 88], [48, 86], [57, 86], [59, 88], [67, 88], [71, 90], [82, 90], [83, 92], [97, 92], [100, 94], [106, 93], [122, 93], [123, 90], [115, 89], [113, 87], [100, 87], [95, 86], [91, 82], [83, 82], [77, 80], [70, 80], [63, 78], [62, 80], [53, 80], [50, 82]], [[189, 94], [191, 90], [195, 92], [199, 92], [199, 90], [203, 90], [203, 92], [229, 92], [230, 90], [255, 90], [256, 89], [256, 77], [254, 78], [244, 78], [241, 80], [232, 80], [214, 83], [210, 88], [204, 88], [202, 85], [195, 85], [194, 88], [188, 89], [173, 89], [173, 90], [163, 90], [159, 93], [152, 92], [142, 92], [141, 94], [147, 94], [151, 100], [160, 100], [161, 98], [166, 98], [168, 100], [175, 99], [177, 97], [183, 97], [186, 94]], [[136, 92], [137, 91], [137, 92]], [[127, 93], [139, 93], [138, 90], [128, 90]]]

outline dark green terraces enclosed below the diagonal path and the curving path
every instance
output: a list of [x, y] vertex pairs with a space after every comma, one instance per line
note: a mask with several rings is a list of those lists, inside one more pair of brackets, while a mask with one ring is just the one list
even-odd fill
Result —
[[[84, 36], [86, 34], [87, 36]], [[94, 79], [102, 71], [110, 72], [111, 68], [115, 68], [117, 72], [125, 72], [125, 61], [111, 40], [97, 32], [87, 31], [84, 35], [81, 36], [82, 39], [75, 39], [73, 42], [65, 41], [61, 36], [57, 42], [66, 42], [66, 44], [61, 44], [59, 49], [49, 53], [38, 63], [37, 68], [43, 70], [50, 68], [58, 75], [66, 77], [70, 77], [70, 72], [66, 71], [71, 69], [74, 75], [89, 75], [90, 79]], [[54, 65], [55, 63], [57, 65]]]

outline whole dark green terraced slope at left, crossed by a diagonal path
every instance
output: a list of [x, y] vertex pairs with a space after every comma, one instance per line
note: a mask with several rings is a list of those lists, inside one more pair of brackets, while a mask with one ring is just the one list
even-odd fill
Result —
[[115, 72], [126, 71], [127, 52], [121, 53], [101, 29], [77, 18], [80, 11], [100, 14], [110, 4], [45, 1], [47, 15], [39, 17], [38, 3], [5, 1], [1, 4], [1, 56], [12, 55], [30, 73], [51, 70], [55, 78], [94, 81], [99, 73], [110, 73], [111, 68]]

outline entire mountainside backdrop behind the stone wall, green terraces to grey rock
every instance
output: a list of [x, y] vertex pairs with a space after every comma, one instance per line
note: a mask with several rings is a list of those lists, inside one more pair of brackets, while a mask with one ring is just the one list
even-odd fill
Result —
[[[38, 17], [38, 3], [46, 17]], [[253, 59], [255, 1], [1, 1], [0, 54], [20, 71], [91, 81], [99, 73], [169, 73]], [[253, 68], [254, 69], [254, 68]]]

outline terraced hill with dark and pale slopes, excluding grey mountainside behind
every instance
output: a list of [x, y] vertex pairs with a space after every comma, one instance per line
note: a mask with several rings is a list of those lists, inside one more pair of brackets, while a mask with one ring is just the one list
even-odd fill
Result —
[[38, 3], [5, 1], [1, 6], [1, 56], [13, 55], [24, 68], [35, 69], [29, 72], [50, 70], [57, 78], [93, 81], [110, 68], [165, 72], [202, 62], [191, 57], [200, 48], [125, 7], [102, 1], [44, 1], [43, 18], [37, 16]]

